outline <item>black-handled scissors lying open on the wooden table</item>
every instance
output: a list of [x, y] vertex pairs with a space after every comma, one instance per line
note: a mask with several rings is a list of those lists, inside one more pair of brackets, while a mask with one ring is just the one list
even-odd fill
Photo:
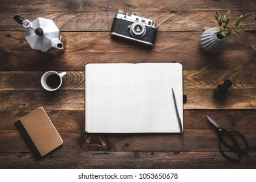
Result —
[[[220, 125], [218, 125], [218, 123], [216, 123], [216, 121], [214, 121], [209, 116], [207, 116], [207, 118], [216, 127], [216, 131], [219, 137], [219, 149], [223, 157], [233, 162], [240, 161], [242, 155], [246, 155], [249, 151], [249, 145], [244, 135], [242, 135], [242, 133], [238, 131], [227, 131], [226, 129], [221, 128]], [[240, 148], [235, 136], [239, 137], [240, 140], [244, 142], [244, 146], [245, 146], [244, 149]], [[224, 151], [221, 148], [221, 146], [225, 146], [225, 148], [229, 149], [229, 151], [231, 151], [235, 155], [231, 155], [231, 154], [227, 155], [227, 151]]]

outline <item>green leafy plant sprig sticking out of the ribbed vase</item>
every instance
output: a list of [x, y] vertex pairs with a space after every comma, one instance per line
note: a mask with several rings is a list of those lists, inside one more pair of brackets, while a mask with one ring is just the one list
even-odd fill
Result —
[[218, 23], [220, 26], [220, 34], [222, 36], [231, 36], [233, 32], [236, 32], [240, 34], [240, 30], [245, 30], [248, 28], [248, 25], [245, 25], [242, 23], [243, 15], [241, 14], [238, 19], [236, 19], [235, 25], [231, 25], [230, 23], [230, 10], [227, 11], [227, 14], [224, 14], [223, 17], [221, 17], [219, 12], [214, 12], [214, 17], [215, 19], [212, 19], [215, 23]]

